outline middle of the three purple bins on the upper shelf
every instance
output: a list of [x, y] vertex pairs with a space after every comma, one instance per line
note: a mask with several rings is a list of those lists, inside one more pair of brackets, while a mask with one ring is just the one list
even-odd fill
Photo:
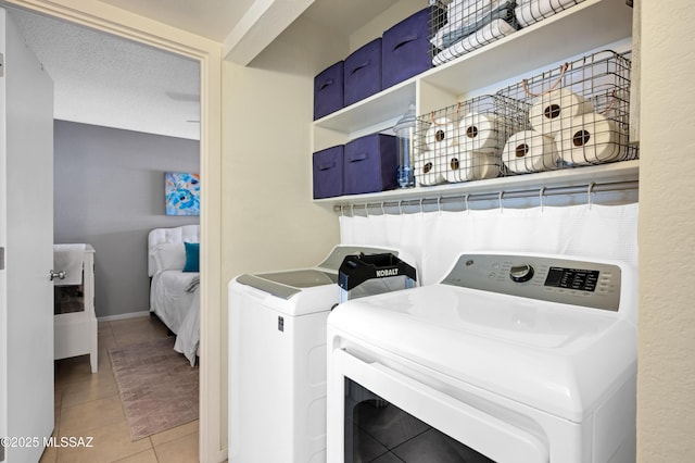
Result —
[[346, 107], [381, 91], [381, 37], [348, 57], [343, 73]]

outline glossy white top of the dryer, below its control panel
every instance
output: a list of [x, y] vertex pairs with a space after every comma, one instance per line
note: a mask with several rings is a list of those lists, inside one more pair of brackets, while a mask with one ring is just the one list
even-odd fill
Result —
[[577, 423], [636, 373], [636, 329], [616, 312], [452, 285], [348, 301], [328, 325], [348, 346]]

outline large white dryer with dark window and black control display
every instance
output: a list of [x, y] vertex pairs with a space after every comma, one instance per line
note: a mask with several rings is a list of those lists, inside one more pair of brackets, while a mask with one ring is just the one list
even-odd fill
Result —
[[627, 264], [498, 253], [348, 301], [328, 317], [328, 462], [632, 463], [636, 309]]

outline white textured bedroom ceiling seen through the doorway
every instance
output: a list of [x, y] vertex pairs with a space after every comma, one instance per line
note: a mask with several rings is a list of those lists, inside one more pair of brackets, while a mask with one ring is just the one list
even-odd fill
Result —
[[53, 79], [55, 118], [200, 138], [198, 62], [34, 13], [10, 15]]

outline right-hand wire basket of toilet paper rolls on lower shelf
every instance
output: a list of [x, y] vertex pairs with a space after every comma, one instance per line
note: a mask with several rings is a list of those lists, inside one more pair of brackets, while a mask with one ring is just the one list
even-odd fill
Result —
[[502, 150], [504, 175], [636, 159], [628, 136], [630, 65], [606, 50], [500, 90], [528, 108]]

